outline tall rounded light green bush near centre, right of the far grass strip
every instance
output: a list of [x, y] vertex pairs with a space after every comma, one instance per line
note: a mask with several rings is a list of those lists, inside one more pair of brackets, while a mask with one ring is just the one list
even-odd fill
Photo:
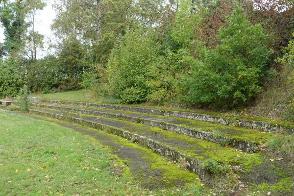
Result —
[[148, 67], [157, 62], [158, 44], [151, 30], [127, 32], [111, 51], [108, 61], [110, 95], [122, 103], [140, 103], [148, 95]]

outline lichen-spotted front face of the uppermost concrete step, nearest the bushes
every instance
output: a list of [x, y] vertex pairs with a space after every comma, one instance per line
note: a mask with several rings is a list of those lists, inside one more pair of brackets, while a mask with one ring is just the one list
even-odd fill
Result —
[[155, 114], [162, 116], [171, 116], [178, 118], [193, 119], [198, 121], [210, 122], [210, 123], [220, 123], [223, 125], [229, 126], [240, 126], [250, 129], [258, 129], [268, 132], [287, 132], [294, 133], [294, 123], [278, 123], [276, 121], [260, 121], [260, 120], [251, 120], [251, 119], [238, 119], [236, 117], [223, 117], [215, 116], [209, 114], [200, 114], [193, 112], [182, 112], [182, 111], [171, 111], [165, 109], [153, 109], [153, 108], [141, 108], [141, 107], [132, 107], [132, 106], [123, 106], [123, 105], [109, 105], [109, 104], [99, 104], [99, 103], [85, 103], [85, 102], [74, 102], [74, 101], [59, 101], [59, 100], [48, 100], [48, 99], [38, 99], [40, 102], [48, 103], [61, 103], [69, 105], [79, 105], [79, 106], [91, 106], [104, 109], [115, 109], [115, 110], [124, 110], [124, 111], [133, 111], [147, 114]]

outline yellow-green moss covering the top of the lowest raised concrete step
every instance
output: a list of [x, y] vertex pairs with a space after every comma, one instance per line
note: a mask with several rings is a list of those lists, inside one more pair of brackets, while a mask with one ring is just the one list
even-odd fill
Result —
[[[74, 114], [74, 113], [73, 113]], [[91, 115], [83, 115], [88, 117], [94, 117]], [[236, 151], [235, 148], [232, 147], [222, 147], [220, 144], [216, 144], [213, 142], [208, 142], [205, 140], [196, 139], [187, 135], [177, 134], [172, 131], [163, 130], [158, 127], [152, 127], [144, 124], [125, 122], [117, 119], [110, 119], [100, 117], [102, 119], [107, 119], [110, 121], [120, 122], [124, 124], [124, 129], [129, 130], [133, 133], [137, 133], [139, 135], [146, 135], [146, 130], [151, 131], [152, 135], [163, 135], [165, 136], [164, 140], [172, 140], [174, 141], [173, 148], [180, 150], [200, 161], [205, 161], [208, 158], [214, 160], [220, 160], [229, 162], [233, 165], [237, 164], [244, 168], [245, 171], [250, 171], [250, 168], [253, 166], [257, 166], [263, 163], [261, 160], [260, 154], [248, 154], [241, 151]], [[123, 127], [122, 127], [123, 128]], [[148, 135], [146, 135], [148, 137]], [[177, 143], [186, 143], [189, 144], [190, 147], [178, 147]], [[171, 146], [169, 143], [166, 143], [168, 146]], [[192, 149], [190, 149], [192, 148]]]

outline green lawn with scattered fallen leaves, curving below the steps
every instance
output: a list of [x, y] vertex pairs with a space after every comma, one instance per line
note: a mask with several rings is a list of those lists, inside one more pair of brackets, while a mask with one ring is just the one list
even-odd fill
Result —
[[86, 135], [2, 111], [0, 127], [0, 195], [149, 195]]

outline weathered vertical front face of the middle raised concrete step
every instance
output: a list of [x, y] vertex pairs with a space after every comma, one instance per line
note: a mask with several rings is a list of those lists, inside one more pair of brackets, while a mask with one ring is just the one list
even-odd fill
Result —
[[254, 143], [251, 141], [238, 140], [236, 138], [231, 138], [231, 137], [227, 137], [227, 136], [220, 135], [220, 134], [213, 134], [213, 133], [210, 133], [207, 131], [195, 130], [195, 129], [191, 129], [191, 128], [187, 128], [187, 127], [183, 127], [180, 125], [167, 123], [167, 122], [158, 122], [155, 120], [125, 116], [123, 114], [112, 114], [112, 113], [107, 113], [107, 112], [78, 109], [78, 108], [73, 109], [73, 108], [69, 108], [69, 107], [62, 107], [62, 106], [56, 106], [56, 105], [45, 105], [45, 104], [34, 104], [34, 105], [37, 107], [57, 109], [57, 110], [63, 110], [63, 111], [68, 111], [68, 112], [102, 116], [102, 117], [106, 117], [106, 118], [113, 118], [113, 119], [118, 119], [118, 120], [123, 120], [123, 121], [134, 122], [134, 123], [147, 124], [150, 126], [155, 126], [155, 127], [169, 130], [169, 131], [173, 131], [173, 132], [176, 132], [179, 134], [188, 135], [190, 137], [198, 138], [201, 140], [206, 140], [206, 141], [214, 142], [217, 144], [221, 144], [222, 146], [229, 145], [231, 147], [235, 147], [237, 149], [241, 149], [241, 150], [245, 150], [245, 151], [257, 150], [258, 146], [259, 146], [258, 143]]

